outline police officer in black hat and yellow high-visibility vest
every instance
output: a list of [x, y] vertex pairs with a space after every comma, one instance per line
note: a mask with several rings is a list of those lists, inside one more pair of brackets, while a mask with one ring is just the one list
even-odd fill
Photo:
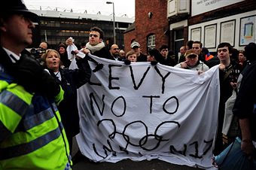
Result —
[[63, 90], [32, 56], [38, 16], [22, 0], [0, 7], [0, 169], [70, 169], [56, 104]]

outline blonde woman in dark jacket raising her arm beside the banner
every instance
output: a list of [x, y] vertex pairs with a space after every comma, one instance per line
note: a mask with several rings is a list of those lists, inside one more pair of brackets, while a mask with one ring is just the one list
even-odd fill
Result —
[[69, 148], [72, 151], [72, 138], [79, 132], [79, 116], [77, 106], [77, 89], [90, 80], [91, 69], [87, 59], [76, 56], [78, 69], [62, 68], [59, 53], [49, 49], [42, 56], [45, 68], [56, 77], [64, 90], [64, 99], [59, 103], [58, 109], [62, 124], [66, 130]]

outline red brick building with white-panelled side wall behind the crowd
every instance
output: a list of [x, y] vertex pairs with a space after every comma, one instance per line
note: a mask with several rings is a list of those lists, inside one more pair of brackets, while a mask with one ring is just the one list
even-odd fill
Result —
[[135, 23], [124, 32], [126, 51], [133, 40], [143, 53], [167, 44], [178, 54], [188, 40], [201, 41], [210, 52], [223, 41], [243, 50], [256, 42], [256, 1], [136, 0]]

